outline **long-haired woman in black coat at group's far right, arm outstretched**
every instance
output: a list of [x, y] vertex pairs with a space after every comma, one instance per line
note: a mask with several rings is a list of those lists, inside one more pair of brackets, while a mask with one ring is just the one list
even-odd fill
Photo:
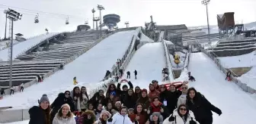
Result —
[[197, 121], [200, 124], [212, 124], [213, 123], [213, 112], [222, 114], [222, 111], [218, 107], [215, 107], [210, 101], [197, 92], [195, 88], [189, 88], [187, 90], [187, 107], [192, 110]]

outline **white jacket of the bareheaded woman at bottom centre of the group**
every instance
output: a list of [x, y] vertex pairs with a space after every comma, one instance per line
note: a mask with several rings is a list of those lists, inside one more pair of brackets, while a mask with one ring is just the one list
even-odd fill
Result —
[[120, 113], [116, 113], [112, 117], [112, 122], [109, 122], [108, 119], [107, 124], [133, 124], [133, 122], [128, 115], [122, 116]]

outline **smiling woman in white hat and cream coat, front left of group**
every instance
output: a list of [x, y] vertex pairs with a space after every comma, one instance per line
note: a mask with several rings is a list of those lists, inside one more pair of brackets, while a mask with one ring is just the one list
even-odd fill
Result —
[[75, 118], [69, 104], [63, 104], [53, 119], [53, 124], [75, 124]]

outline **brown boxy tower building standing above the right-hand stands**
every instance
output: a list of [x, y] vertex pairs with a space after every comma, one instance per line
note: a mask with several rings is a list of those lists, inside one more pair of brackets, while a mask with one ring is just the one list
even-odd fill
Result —
[[234, 14], [234, 12], [217, 14], [217, 21], [219, 26], [219, 39], [239, 35], [244, 30], [244, 24], [235, 24]]

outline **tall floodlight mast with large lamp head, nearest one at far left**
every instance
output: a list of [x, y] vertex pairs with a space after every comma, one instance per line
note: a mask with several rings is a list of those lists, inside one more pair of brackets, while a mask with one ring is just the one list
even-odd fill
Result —
[[22, 14], [18, 13], [17, 11], [14, 11], [10, 8], [8, 10], [5, 10], [4, 13], [6, 14], [7, 18], [11, 21], [11, 45], [10, 45], [10, 82], [9, 87], [12, 86], [12, 52], [13, 52], [13, 23], [14, 21], [21, 20]]

